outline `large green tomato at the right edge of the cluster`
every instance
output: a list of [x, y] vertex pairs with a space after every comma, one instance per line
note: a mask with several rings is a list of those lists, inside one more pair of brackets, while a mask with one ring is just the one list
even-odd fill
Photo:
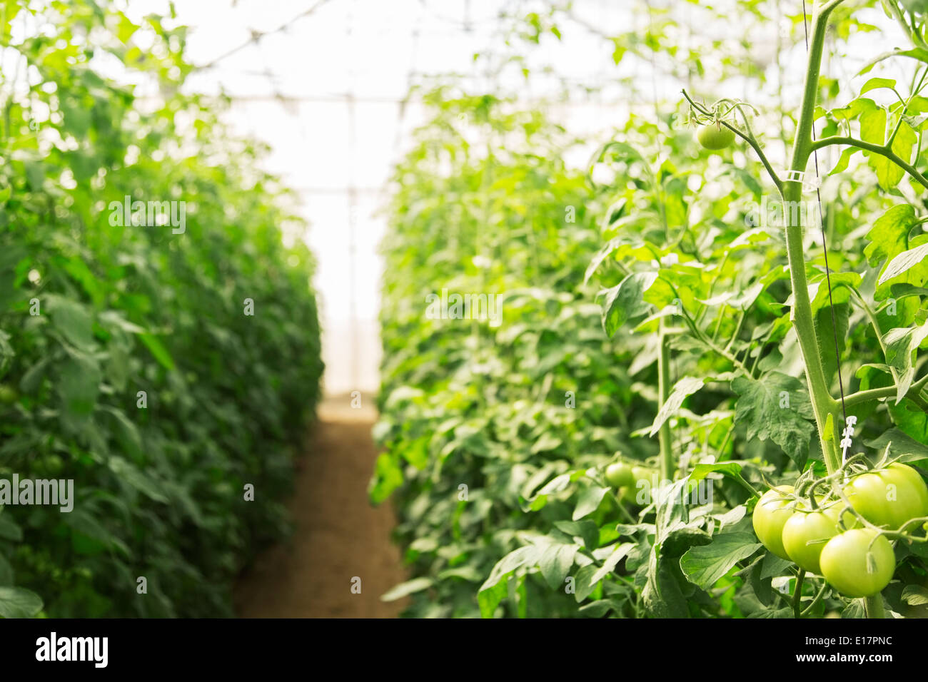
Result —
[[905, 464], [855, 476], [844, 495], [860, 516], [876, 526], [895, 530], [911, 519], [928, 516], [928, 486], [918, 471]]

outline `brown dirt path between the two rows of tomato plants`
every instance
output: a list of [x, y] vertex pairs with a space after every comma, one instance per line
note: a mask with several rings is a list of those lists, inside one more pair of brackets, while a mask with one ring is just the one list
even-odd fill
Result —
[[[372, 405], [365, 396], [365, 405]], [[297, 461], [290, 540], [266, 550], [238, 581], [236, 612], [245, 618], [392, 618], [402, 602], [380, 595], [406, 579], [390, 542], [393, 509], [371, 508], [367, 482], [377, 451], [376, 414], [348, 396], [327, 399], [309, 452]], [[352, 579], [361, 579], [361, 594]]]

